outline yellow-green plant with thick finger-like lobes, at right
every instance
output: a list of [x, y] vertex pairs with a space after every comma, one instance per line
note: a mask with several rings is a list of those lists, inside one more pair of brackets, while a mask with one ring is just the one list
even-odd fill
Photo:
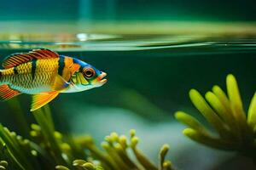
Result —
[[226, 86], [227, 95], [218, 86], [213, 86], [212, 91], [205, 95], [205, 99], [197, 90], [189, 91], [189, 98], [195, 108], [206, 118], [215, 133], [194, 116], [183, 111], [177, 111], [175, 117], [188, 126], [183, 130], [183, 134], [190, 139], [219, 150], [236, 150], [255, 159], [256, 93], [246, 115], [233, 75], [227, 76]]

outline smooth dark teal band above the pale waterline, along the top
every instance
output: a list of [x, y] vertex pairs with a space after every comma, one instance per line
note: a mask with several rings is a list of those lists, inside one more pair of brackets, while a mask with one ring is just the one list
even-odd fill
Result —
[[1, 20], [250, 20], [253, 0], [1, 1]]

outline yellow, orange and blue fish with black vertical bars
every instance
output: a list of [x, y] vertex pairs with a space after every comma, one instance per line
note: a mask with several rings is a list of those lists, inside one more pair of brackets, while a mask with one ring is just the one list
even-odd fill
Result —
[[83, 60], [46, 48], [11, 54], [0, 70], [0, 100], [31, 94], [30, 111], [47, 105], [61, 93], [76, 93], [101, 87], [107, 73]]

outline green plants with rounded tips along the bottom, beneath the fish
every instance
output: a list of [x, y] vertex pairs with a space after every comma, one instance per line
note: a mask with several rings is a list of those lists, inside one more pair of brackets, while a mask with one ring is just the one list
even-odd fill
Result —
[[156, 166], [137, 148], [139, 139], [135, 130], [131, 130], [129, 138], [111, 133], [102, 142], [102, 147], [98, 147], [90, 136], [70, 136], [56, 131], [49, 106], [32, 115], [37, 123], [22, 129], [23, 133], [30, 129], [26, 132], [29, 133], [27, 139], [0, 124], [0, 169], [173, 169], [171, 161], [165, 159], [169, 146], [164, 144], [161, 148], [160, 163]]

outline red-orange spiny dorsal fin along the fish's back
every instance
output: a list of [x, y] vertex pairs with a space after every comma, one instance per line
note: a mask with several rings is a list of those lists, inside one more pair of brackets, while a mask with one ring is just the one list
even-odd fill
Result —
[[58, 58], [59, 54], [45, 48], [33, 49], [28, 53], [11, 54], [3, 60], [3, 68], [9, 69], [32, 59]]

